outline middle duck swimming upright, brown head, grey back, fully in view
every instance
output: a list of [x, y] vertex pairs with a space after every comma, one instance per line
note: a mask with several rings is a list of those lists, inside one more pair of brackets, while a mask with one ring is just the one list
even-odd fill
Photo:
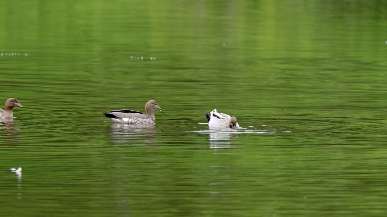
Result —
[[125, 124], [154, 124], [153, 111], [160, 106], [155, 100], [150, 100], [145, 105], [146, 114], [130, 109], [111, 110], [110, 113], [104, 113], [106, 117], [117, 123]]

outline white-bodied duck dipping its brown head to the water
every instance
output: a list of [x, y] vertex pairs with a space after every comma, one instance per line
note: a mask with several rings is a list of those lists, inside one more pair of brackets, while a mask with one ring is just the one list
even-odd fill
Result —
[[210, 114], [205, 113], [205, 117], [208, 120], [208, 127], [210, 128], [239, 128], [239, 124], [236, 120], [236, 117], [231, 117], [230, 115], [218, 113], [216, 108], [210, 112]]

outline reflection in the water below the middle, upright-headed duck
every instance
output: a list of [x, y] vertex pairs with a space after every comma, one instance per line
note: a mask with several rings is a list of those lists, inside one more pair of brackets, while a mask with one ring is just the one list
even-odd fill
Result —
[[115, 123], [111, 125], [110, 134], [116, 144], [127, 142], [154, 143], [154, 124], [134, 125]]

